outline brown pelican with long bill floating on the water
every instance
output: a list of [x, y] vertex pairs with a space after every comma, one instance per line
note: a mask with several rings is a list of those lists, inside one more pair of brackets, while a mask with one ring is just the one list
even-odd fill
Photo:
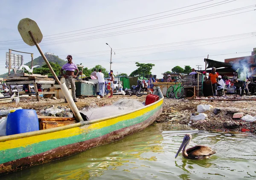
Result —
[[181, 143], [175, 158], [178, 156], [182, 148], [183, 148], [182, 156], [186, 159], [194, 159], [194, 160], [208, 159], [212, 154], [216, 153], [216, 151], [204, 145], [196, 145], [192, 148], [186, 149], [191, 139], [192, 139], [192, 136], [190, 134], [185, 134], [183, 142]]

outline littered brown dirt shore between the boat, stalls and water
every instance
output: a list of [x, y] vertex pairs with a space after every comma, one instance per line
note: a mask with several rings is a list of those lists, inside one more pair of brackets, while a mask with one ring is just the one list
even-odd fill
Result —
[[[89, 107], [92, 104], [98, 106], [111, 105], [113, 102], [118, 101], [122, 98], [135, 99], [140, 102], [145, 101], [146, 95], [142, 97], [137, 96], [122, 96], [116, 95], [113, 98], [101, 98], [96, 97], [86, 97], [84, 99], [78, 99], [76, 106], [79, 110]], [[244, 99], [249, 99], [250, 96], [243, 97]], [[156, 123], [164, 123], [170, 126], [181, 125], [185, 128], [193, 128], [205, 131], [233, 131], [233, 132], [244, 132], [248, 131], [250, 133], [256, 134], [256, 122], [246, 122], [240, 119], [233, 119], [233, 114], [236, 112], [244, 113], [244, 115], [256, 116], [255, 105], [256, 101], [253, 99], [242, 100], [241, 97], [232, 97], [230, 100], [221, 97], [217, 98], [219, 101], [214, 99], [210, 100], [191, 100], [191, 99], [168, 99], [165, 98], [163, 101], [163, 113], [158, 116]], [[235, 101], [236, 99], [241, 99], [242, 101]], [[198, 105], [210, 105], [210, 110], [204, 113], [207, 117], [204, 120], [197, 120], [190, 122], [190, 116], [192, 113], [197, 115]], [[23, 109], [35, 109], [39, 112], [42, 109], [47, 109], [49, 107], [64, 107], [68, 108], [69, 105], [64, 102], [64, 99], [43, 99], [36, 101], [35, 96], [20, 97], [20, 103], [18, 105]], [[2, 104], [1, 109], [17, 107], [15, 101], [8, 104]], [[218, 114], [215, 115], [214, 109], [219, 109]], [[189, 123], [190, 122], [190, 123]]]

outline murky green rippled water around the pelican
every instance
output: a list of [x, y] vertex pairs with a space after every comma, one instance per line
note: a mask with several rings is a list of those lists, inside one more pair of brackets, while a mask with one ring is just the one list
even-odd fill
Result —
[[[184, 134], [217, 151], [209, 160], [175, 159]], [[249, 134], [172, 131], [155, 124], [144, 131], [72, 157], [0, 177], [25, 179], [256, 179], [256, 138]]]

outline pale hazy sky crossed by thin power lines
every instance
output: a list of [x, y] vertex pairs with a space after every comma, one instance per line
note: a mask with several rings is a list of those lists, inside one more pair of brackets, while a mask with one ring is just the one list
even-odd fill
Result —
[[9, 49], [40, 55], [17, 30], [23, 18], [41, 29], [43, 52], [72, 55], [89, 69], [109, 71], [112, 48], [115, 75], [130, 75], [136, 62], [155, 64], [157, 78], [175, 66], [204, 70], [207, 55], [224, 62], [256, 47], [255, 0], [0, 0], [0, 7], [0, 74], [8, 73]]

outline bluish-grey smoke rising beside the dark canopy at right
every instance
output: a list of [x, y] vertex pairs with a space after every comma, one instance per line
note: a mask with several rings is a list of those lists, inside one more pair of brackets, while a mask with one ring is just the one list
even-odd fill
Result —
[[243, 58], [239, 60], [239, 63], [234, 63], [232, 65], [232, 69], [234, 71], [239, 69], [238, 80], [245, 81], [251, 76], [251, 73], [249, 72], [248, 60], [249, 58]]

